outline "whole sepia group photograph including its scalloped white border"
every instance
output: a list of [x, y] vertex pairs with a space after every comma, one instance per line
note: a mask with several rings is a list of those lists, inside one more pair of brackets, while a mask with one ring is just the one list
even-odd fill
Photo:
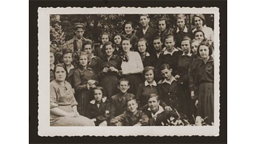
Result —
[[38, 42], [39, 135], [218, 136], [217, 7], [41, 7]]

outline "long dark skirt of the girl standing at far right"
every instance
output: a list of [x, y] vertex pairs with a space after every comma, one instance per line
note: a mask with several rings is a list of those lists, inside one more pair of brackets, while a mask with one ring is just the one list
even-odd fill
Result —
[[205, 119], [207, 124], [214, 122], [214, 84], [201, 83], [198, 87], [198, 115]]

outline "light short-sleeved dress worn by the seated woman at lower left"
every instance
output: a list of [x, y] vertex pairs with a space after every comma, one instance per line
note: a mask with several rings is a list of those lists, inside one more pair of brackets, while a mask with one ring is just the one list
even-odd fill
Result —
[[[73, 112], [73, 106], [76, 106], [74, 94], [71, 85], [65, 81], [65, 86], [60, 85], [55, 79], [50, 83], [50, 109], [58, 107], [68, 113]], [[51, 126], [94, 126], [95, 124], [89, 118], [84, 116], [69, 117], [58, 116], [50, 113]]]

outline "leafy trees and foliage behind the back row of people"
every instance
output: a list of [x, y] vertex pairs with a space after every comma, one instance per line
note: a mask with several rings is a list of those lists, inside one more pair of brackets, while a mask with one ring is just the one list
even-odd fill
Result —
[[[191, 18], [194, 14], [186, 14], [186, 26], [193, 29]], [[214, 29], [214, 15], [204, 14], [206, 26]], [[156, 29], [156, 22], [159, 18], [169, 19], [170, 29], [175, 29], [175, 14], [149, 14], [149, 25]], [[50, 41], [51, 50], [59, 59], [63, 49], [66, 49], [65, 42], [74, 36], [75, 23], [81, 22], [85, 25], [84, 37], [92, 39], [93, 43], [100, 43], [100, 34], [107, 32], [110, 35], [122, 33], [124, 22], [132, 21], [134, 31], [140, 28], [139, 14], [61, 14], [50, 15]], [[55, 58], [56, 59], [56, 58]]]

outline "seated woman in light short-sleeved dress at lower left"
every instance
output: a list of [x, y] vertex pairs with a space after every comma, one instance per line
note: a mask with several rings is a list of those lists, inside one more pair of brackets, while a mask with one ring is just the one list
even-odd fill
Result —
[[67, 69], [63, 64], [54, 67], [55, 79], [50, 83], [50, 125], [94, 126], [91, 119], [77, 112], [77, 102], [66, 76]]

